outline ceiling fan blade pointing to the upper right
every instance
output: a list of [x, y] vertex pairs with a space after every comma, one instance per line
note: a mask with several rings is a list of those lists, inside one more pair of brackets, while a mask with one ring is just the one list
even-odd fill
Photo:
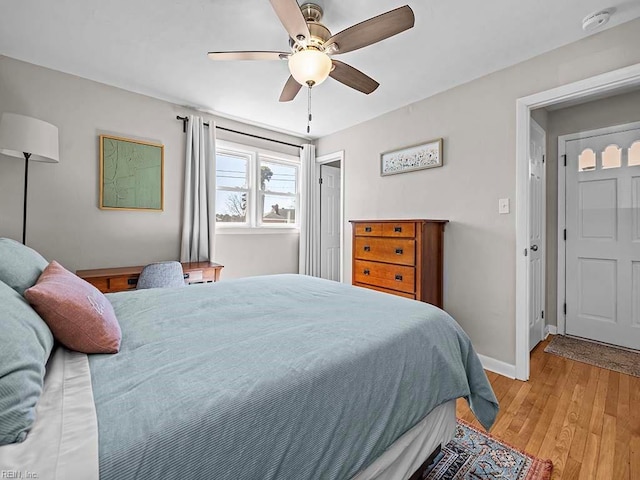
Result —
[[405, 5], [336, 33], [325, 42], [325, 50], [335, 45], [335, 53], [351, 52], [404, 32], [414, 22], [413, 10]]

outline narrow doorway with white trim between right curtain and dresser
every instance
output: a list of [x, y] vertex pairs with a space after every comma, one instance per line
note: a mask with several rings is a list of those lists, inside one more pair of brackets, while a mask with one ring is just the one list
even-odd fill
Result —
[[320, 183], [320, 276], [341, 282], [343, 279], [343, 152], [316, 159]]

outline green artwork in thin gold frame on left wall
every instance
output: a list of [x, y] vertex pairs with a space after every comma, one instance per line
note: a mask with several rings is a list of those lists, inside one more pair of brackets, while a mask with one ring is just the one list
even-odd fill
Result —
[[164, 145], [100, 135], [100, 208], [164, 209]]

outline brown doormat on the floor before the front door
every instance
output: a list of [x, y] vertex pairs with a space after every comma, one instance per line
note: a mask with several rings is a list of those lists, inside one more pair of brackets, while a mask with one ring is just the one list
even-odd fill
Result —
[[616, 348], [565, 335], [554, 335], [544, 351], [596, 367], [640, 377], [640, 352], [638, 351]]

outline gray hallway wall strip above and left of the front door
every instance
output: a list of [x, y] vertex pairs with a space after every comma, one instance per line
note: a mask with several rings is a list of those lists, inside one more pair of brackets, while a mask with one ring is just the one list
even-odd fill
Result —
[[640, 121], [640, 91], [616, 95], [547, 115], [547, 299], [546, 320], [557, 325], [558, 137]]

